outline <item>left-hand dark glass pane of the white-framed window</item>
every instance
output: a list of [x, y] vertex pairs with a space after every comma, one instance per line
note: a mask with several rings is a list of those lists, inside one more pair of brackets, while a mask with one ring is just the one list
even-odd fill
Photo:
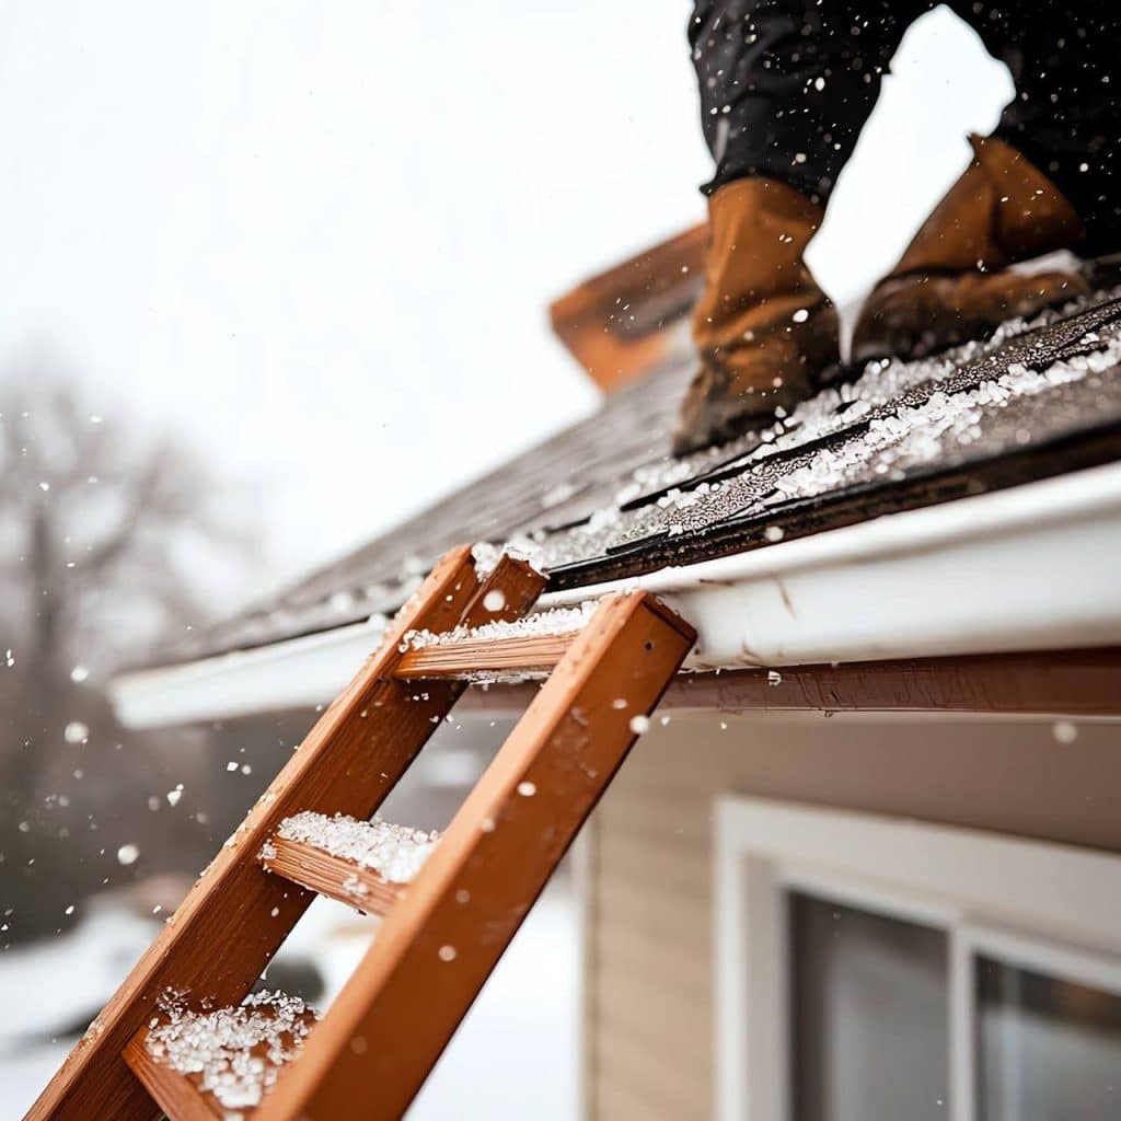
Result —
[[945, 1121], [943, 932], [791, 892], [795, 1121]]

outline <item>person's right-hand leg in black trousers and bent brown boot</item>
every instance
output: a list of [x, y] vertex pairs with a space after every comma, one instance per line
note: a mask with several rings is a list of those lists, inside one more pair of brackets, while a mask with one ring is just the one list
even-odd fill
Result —
[[1097, 0], [953, 7], [1008, 64], [1016, 96], [995, 133], [973, 139], [973, 163], [869, 297], [856, 361], [941, 350], [1090, 290], [1072, 270], [1011, 265], [1121, 249], [1121, 15]]

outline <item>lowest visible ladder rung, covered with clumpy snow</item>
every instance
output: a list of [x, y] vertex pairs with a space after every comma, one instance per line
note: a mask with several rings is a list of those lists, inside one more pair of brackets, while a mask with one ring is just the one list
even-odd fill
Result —
[[316, 1020], [282, 993], [209, 1012], [173, 1011], [129, 1040], [124, 1062], [173, 1121], [248, 1121]]

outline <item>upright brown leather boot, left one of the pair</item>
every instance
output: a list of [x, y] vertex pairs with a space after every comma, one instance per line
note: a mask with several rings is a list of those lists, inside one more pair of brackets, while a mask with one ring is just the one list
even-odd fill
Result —
[[708, 200], [705, 290], [693, 312], [701, 367], [676, 454], [767, 424], [837, 367], [836, 312], [802, 259], [823, 216], [776, 179], [736, 179]]

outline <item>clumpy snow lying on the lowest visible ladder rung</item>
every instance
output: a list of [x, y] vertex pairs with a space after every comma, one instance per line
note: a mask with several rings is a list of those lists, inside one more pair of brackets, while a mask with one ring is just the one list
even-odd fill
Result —
[[179, 1074], [197, 1075], [230, 1119], [252, 1110], [304, 1046], [317, 1015], [298, 997], [259, 992], [233, 1008], [188, 1011], [172, 993], [165, 1020], [148, 1031], [148, 1054]]

